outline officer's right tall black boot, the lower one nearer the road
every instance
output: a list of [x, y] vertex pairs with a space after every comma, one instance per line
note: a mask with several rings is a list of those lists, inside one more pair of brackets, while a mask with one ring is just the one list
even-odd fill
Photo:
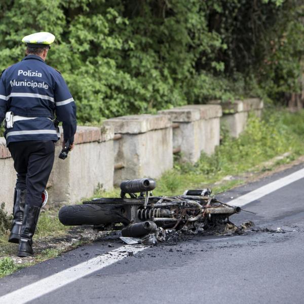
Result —
[[23, 225], [21, 230], [21, 236], [19, 240], [18, 256], [25, 257], [32, 255], [32, 237], [36, 230], [40, 208], [31, 205], [25, 205]]

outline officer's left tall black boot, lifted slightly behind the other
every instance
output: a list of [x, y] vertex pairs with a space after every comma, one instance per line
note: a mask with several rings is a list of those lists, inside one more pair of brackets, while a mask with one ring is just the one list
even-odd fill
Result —
[[23, 212], [25, 205], [26, 189], [15, 188], [14, 193], [14, 219], [11, 229], [11, 235], [9, 237], [9, 242], [19, 243], [21, 227], [23, 222]]

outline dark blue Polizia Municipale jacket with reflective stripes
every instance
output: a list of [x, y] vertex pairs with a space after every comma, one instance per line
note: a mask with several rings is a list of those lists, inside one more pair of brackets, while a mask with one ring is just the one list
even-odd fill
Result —
[[0, 123], [5, 113], [33, 118], [14, 122], [7, 129], [7, 144], [24, 140], [57, 141], [52, 120], [62, 122], [64, 140], [73, 141], [76, 132], [76, 106], [61, 74], [36, 55], [7, 68], [0, 79]]

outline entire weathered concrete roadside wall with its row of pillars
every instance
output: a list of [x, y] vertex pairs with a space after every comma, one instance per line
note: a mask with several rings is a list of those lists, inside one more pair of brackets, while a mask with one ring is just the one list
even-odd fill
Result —
[[[47, 185], [49, 204], [76, 203], [94, 189], [110, 189], [124, 179], [159, 178], [173, 167], [173, 153], [195, 163], [203, 152], [212, 154], [219, 144], [220, 123], [237, 137], [245, 128], [249, 111], [261, 115], [257, 98], [234, 103], [186, 105], [159, 111], [159, 115], [131, 115], [106, 120], [102, 127], [78, 127], [75, 147], [60, 160], [61, 140], [56, 143], [55, 163]], [[11, 212], [16, 172], [0, 137], [0, 203]]]

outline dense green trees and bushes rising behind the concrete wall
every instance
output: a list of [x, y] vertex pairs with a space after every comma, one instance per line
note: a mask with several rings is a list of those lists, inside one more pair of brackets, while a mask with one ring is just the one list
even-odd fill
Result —
[[82, 122], [250, 95], [300, 90], [299, 0], [3, 0], [0, 68], [22, 36], [50, 31]]

